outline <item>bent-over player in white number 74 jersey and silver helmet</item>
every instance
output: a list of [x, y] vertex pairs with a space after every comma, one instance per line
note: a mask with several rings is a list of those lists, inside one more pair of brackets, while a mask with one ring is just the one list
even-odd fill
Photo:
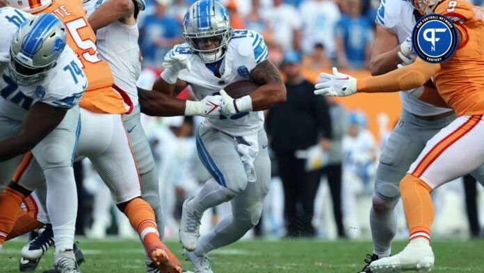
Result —
[[[79, 272], [72, 253], [77, 211], [72, 159], [81, 125], [78, 103], [88, 81], [81, 62], [65, 46], [63, 22], [54, 15], [34, 17], [1, 8], [0, 29], [2, 179], [12, 178], [17, 156], [31, 150], [47, 179], [47, 210], [57, 244], [54, 263], [59, 272]], [[10, 182], [0, 194], [0, 203], [8, 205], [0, 209], [6, 216], [0, 218], [2, 226], [13, 226], [14, 208], [30, 193]], [[0, 248], [7, 235], [2, 229]]]

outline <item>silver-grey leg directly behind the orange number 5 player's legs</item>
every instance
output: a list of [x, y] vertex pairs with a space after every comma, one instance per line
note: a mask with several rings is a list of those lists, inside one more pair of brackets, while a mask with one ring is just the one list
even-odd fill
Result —
[[143, 195], [143, 200], [147, 201], [152, 207], [156, 217], [158, 233], [161, 239], [163, 239], [165, 216], [163, 210], [161, 210], [158, 173], [154, 165], [150, 143], [148, 143], [145, 131], [141, 125], [140, 108], [134, 107], [130, 114], [122, 115], [122, 119], [140, 173], [141, 194]]

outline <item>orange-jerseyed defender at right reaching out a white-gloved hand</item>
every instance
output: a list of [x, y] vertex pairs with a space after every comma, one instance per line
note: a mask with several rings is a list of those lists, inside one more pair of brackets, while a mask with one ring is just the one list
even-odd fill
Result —
[[371, 272], [389, 270], [431, 270], [434, 255], [430, 247], [433, 204], [430, 192], [484, 163], [484, 61], [482, 42], [471, 37], [484, 33], [483, 10], [467, 1], [419, 0], [414, 2], [420, 14], [439, 13], [450, 17], [458, 30], [458, 48], [445, 63], [414, 63], [385, 75], [355, 79], [337, 72], [322, 74], [316, 94], [352, 95], [357, 92], [410, 90], [433, 77], [444, 102], [457, 118], [427, 141], [399, 185], [410, 231], [410, 243], [401, 253], [373, 261]]

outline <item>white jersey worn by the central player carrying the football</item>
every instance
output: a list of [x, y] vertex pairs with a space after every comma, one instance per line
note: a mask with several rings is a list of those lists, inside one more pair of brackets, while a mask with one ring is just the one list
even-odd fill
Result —
[[[268, 49], [264, 38], [250, 30], [238, 29], [232, 34], [229, 46], [225, 52], [224, 61], [220, 68], [221, 77], [213, 72], [195, 54], [192, 54], [188, 44], [176, 45], [168, 54], [188, 55], [191, 62], [191, 72], [184, 69], [179, 72], [178, 78], [190, 84], [197, 100], [207, 95], [216, 95], [220, 89], [236, 81], [250, 80], [250, 71], [268, 57]], [[204, 125], [215, 128], [232, 136], [243, 136], [257, 132], [264, 125], [262, 111], [239, 113], [230, 118], [205, 118]]]

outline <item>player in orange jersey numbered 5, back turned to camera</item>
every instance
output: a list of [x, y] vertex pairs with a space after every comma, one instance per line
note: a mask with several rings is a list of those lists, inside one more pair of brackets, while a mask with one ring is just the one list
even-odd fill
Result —
[[[159, 267], [164, 272], [170, 269], [181, 271], [177, 258], [159, 240], [153, 210], [139, 198], [141, 192], [136, 162], [120, 116], [126, 112], [126, 109], [121, 97], [113, 91], [113, 78], [109, 66], [97, 56], [95, 34], [92, 29], [86, 27], [88, 23], [81, 1], [44, 0], [35, 7], [31, 6], [31, 3], [11, 1], [10, 5], [18, 6], [31, 13], [39, 11], [54, 13], [65, 21], [67, 31], [70, 33], [67, 42], [76, 48], [79, 59], [83, 63], [83, 70], [86, 71], [88, 78], [92, 79], [88, 86], [88, 95], [81, 100], [83, 129], [76, 158], [91, 159], [92, 164], [111, 189], [118, 208], [127, 215], [131, 225], [140, 234], [147, 255], [154, 263], [153, 266]], [[92, 41], [92, 43], [86, 41]], [[122, 90], [118, 91], [124, 94]], [[129, 101], [127, 104], [132, 106]], [[99, 131], [99, 127], [103, 127], [104, 130]], [[40, 180], [42, 176], [37, 174], [38, 167], [35, 162], [26, 165], [28, 167], [19, 173], [17, 185], [33, 185], [34, 181], [42, 181]], [[46, 237], [42, 236], [39, 239], [45, 240]], [[40, 246], [42, 244], [33, 242], [22, 251], [22, 255], [38, 260], [47, 251], [47, 247], [38, 249]]]

